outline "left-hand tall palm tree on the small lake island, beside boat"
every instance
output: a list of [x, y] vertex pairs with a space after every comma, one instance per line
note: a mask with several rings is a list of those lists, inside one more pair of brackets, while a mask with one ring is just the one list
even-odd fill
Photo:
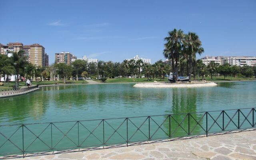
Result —
[[175, 60], [175, 81], [178, 81], [178, 62], [180, 54], [182, 53], [182, 43], [184, 34], [182, 30], [172, 30], [168, 32], [168, 37], [164, 38], [167, 42], [170, 42], [170, 49], [172, 52], [172, 58]]

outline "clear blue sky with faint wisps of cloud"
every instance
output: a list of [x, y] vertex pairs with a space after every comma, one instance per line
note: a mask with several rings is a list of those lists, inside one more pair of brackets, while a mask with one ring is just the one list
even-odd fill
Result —
[[164, 60], [174, 28], [196, 32], [208, 56], [256, 56], [255, 0], [1, 0], [0, 43], [122, 62]]

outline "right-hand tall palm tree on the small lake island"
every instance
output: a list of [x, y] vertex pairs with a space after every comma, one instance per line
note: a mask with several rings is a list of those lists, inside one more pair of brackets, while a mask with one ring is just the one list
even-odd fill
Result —
[[189, 82], [191, 82], [193, 59], [196, 59], [196, 53], [201, 54], [202, 52], [204, 52], [204, 48], [202, 48], [201, 46], [202, 43], [196, 33], [188, 32], [188, 34], [185, 35], [183, 49], [186, 54], [188, 54]]

